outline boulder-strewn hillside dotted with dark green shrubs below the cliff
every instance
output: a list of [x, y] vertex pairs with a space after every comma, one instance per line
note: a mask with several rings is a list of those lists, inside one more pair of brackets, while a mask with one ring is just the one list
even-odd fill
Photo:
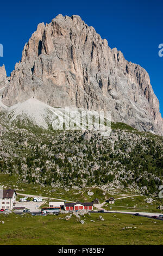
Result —
[[108, 137], [53, 131], [1, 119], [0, 172], [52, 188], [129, 188], [145, 194], [162, 184], [162, 137], [112, 123]]

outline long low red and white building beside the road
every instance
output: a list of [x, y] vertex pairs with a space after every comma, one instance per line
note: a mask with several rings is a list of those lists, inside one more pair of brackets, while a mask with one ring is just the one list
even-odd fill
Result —
[[93, 203], [65, 203], [65, 210], [66, 211], [78, 211], [78, 210], [93, 210]]

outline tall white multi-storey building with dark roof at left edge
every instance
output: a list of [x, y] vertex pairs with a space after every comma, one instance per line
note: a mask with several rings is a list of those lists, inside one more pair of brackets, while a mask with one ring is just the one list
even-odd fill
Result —
[[14, 203], [16, 201], [16, 191], [15, 190], [1, 190], [0, 193], [0, 209], [12, 210]]

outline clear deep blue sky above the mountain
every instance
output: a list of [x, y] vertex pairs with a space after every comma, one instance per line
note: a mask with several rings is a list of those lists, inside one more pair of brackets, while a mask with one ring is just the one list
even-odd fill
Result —
[[117, 47], [127, 60], [147, 70], [163, 117], [163, 57], [158, 55], [158, 46], [163, 44], [162, 0], [15, 0], [1, 1], [0, 8], [0, 44], [4, 46], [0, 65], [5, 64], [8, 75], [21, 59], [23, 46], [38, 23], [49, 23], [60, 13], [77, 14], [87, 25], [95, 27], [111, 48]]

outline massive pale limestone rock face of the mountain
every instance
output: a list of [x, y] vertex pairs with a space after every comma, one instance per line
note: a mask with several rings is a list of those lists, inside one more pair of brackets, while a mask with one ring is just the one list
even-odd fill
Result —
[[146, 70], [111, 49], [77, 15], [40, 23], [24, 46], [2, 102], [12, 106], [31, 97], [53, 107], [105, 109], [113, 121], [163, 135], [159, 101]]

